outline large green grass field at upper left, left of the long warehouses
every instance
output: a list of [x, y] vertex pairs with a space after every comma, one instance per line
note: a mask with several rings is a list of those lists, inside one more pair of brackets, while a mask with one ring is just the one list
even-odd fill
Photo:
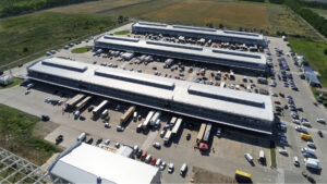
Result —
[[37, 12], [0, 20], [0, 65], [113, 25], [109, 17]]

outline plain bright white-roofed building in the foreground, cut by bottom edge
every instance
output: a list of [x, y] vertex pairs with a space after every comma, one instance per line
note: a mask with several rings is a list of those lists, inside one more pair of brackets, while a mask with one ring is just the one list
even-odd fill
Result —
[[68, 183], [160, 183], [157, 167], [81, 142], [61, 154], [48, 170]]

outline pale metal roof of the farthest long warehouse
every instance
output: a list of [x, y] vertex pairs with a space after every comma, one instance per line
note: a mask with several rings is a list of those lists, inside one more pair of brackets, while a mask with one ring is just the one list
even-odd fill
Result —
[[232, 37], [240, 39], [251, 39], [265, 41], [264, 36], [262, 34], [256, 33], [247, 33], [247, 32], [235, 32], [235, 30], [223, 30], [223, 29], [214, 29], [214, 28], [205, 28], [205, 27], [193, 27], [193, 26], [183, 26], [183, 25], [168, 25], [160, 23], [148, 23], [148, 22], [136, 22], [132, 25], [133, 27], [143, 27], [143, 28], [153, 28], [162, 32], [177, 32], [177, 33], [192, 33], [192, 34], [201, 34], [201, 35], [210, 35], [217, 37]]

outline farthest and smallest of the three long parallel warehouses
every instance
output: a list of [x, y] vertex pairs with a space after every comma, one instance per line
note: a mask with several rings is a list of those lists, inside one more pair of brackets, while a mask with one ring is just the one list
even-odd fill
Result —
[[214, 29], [205, 27], [192, 27], [183, 25], [168, 25], [160, 23], [136, 22], [132, 24], [135, 34], [162, 34], [169, 36], [186, 36], [192, 38], [205, 38], [217, 41], [267, 46], [266, 38], [261, 34]]

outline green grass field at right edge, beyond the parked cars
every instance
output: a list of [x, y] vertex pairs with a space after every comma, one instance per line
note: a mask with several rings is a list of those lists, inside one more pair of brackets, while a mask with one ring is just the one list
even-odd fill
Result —
[[320, 83], [323, 87], [327, 87], [327, 44], [323, 41], [311, 41], [304, 39], [289, 38], [292, 49], [303, 54], [308, 61], [310, 66], [320, 74]]

